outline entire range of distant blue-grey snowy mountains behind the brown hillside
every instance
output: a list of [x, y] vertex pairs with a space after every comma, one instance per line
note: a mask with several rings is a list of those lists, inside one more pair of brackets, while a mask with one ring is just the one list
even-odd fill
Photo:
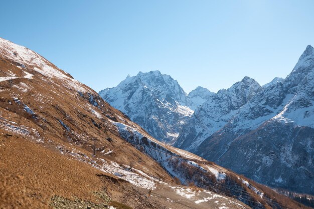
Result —
[[244, 77], [216, 94], [198, 87], [187, 95], [153, 71], [99, 94], [160, 141], [260, 183], [314, 194], [313, 78], [314, 49], [307, 46], [285, 79], [263, 86]]

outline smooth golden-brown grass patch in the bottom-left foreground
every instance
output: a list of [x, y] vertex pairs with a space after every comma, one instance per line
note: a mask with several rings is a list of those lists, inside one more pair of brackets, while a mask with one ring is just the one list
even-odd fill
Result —
[[99, 170], [21, 137], [0, 137], [2, 208], [48, 208], [53, 195], [95, 202]]

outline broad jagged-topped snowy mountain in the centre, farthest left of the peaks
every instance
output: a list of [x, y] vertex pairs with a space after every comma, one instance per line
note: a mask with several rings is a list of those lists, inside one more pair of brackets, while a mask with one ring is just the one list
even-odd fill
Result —
[[194, 109], [212, 94], [198, 87], [188, 96], [176, 80], [159, 71], [127, 76], [118, 86], [99, 92], [110, 105], [167, 143], [177, 139]]

